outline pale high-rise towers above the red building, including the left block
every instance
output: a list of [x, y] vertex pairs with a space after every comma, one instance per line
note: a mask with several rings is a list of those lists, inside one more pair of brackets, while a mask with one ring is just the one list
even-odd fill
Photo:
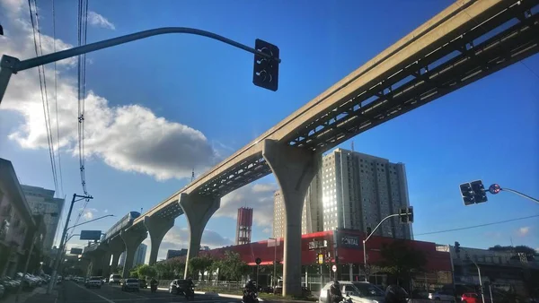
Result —
[[[324, 156], [305, 195], [302, 234], [320, 230], [374, 229], [385, 216], [408, 206], [404, 164], [336, 149]], [[274, 195], [273, 238], [284, 237], [285, 208]], [[377, 236], [411, 239], [411, 225], [398, 218], [384, 223]]]

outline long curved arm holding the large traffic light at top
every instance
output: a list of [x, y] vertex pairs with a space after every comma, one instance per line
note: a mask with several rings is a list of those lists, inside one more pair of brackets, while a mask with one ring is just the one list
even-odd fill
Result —
[[69, 48], [69, 49], [58, 51], [56, 53], [52, 53], [48, 55], [36, 56], [34, 58], [23, 60], [23, 61], [20, 61], [18, 58], [13, 57], [13, 56], [6, 56], [6, 55], [2, 56], [2, 61], [0, 61], [0, 103], [2, 103], [5, 89], [7, 88], [7, 84], [9, 83], [9, 79], [11, 78], [12, 74], [17, 74], [18, 72], [21, 72], [21, 71], [24, 71], [24, 70], [27, 70], [36, 66], [47, 65], [49, 63], [63, 60], [72, 56], [79, 56], [86, 53], [90, 53], [95, 50], [99, 50], [103, 48], [110, 48], [110, 47], [114, 47], [120, 44], [128, 43], [128, 42], [139, 40], [139, 39], [146, 39], [148, 37], [164, 35], [164, 34], [172, 34], [172, 33], [191, 34], [191, 35], [208, 37], [209, 39], [216, 39], [218, 41], [231, 45], [234, 48], [241, 48], [257, 56], [271, 59], [271, 60], [277, 61], [278, 63], [281, 62], [281, 60], [278, 57], [271, 56], [269, 54], [261, 52], [260, 50], [250, 48], [239, 42], [236, 42], [231, 39], [227, 39], [223, 36], [219, 36], [213, 32], [209, 32], [206, 30], [197, 30], [197, 29], [183, 28], [183, 27], [166, 27], [166, 28], [158, 28], [154, 30], [144, 30], [144, 31], [133, 33], [133, 34], [113, 38], [113, 39], [106, 39], [99, 42], [86, 44], [81, 47]]

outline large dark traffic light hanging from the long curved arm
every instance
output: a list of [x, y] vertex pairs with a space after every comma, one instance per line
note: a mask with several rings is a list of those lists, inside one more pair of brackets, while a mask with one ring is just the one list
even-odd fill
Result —
[[278, 47], [264, 40], [256, 39], [254, 49], [268, 54], [271, 58], [254, 55], [252, 83], [270, 91], [278, 89]]

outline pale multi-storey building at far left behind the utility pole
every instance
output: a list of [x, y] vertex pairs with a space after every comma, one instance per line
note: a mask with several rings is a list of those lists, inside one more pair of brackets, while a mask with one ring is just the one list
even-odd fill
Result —
[[43, 247], [50, 249], [56, 236], [58, 222], [60, 221], [60, 214], [64, 208], [65, 200], [55, 198], [54, 190], [37, 186], [21, 185], [21, 187], [33, 215], [57, 213], [55, 217], [49, 214], [43, 216], [43, 222], [47, 228], [47, 234], [43, 239]]

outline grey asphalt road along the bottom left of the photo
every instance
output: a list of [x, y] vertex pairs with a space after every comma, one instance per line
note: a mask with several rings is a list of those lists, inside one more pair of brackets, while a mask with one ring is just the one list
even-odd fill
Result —
[[[149, 289], [139, 292], [121, 291], [119, 286], [103, 285], [101, 289], [86, 289], [84, 285], [74, 281], [64, 281], [63, 290], [57, 303], [172, 303], [187, 302], [183, 296], [172, 295], [166, 290], [157, 290], [151, 293]], [[195, 299], [189, 302], [195, 303], [239, 303], [241, 299], [219, 298], [208, 295], [195, 295]], [[42, 302], [29, 302], [42, 303]]]

